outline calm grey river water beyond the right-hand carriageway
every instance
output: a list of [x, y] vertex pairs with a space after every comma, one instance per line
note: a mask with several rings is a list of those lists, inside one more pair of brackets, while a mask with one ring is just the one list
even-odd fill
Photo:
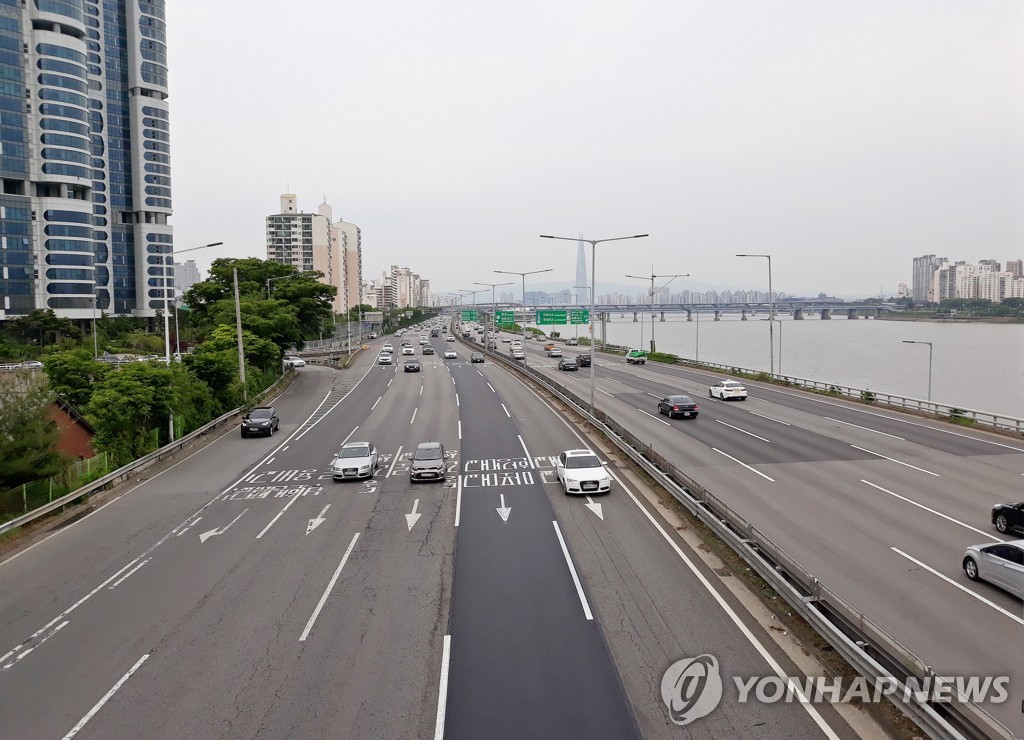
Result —
[[[767, 372], [768, 322], [761, 318], [742, 321], [726, 314], [716, 321], [701, 314], [698, 328], [696, 314], [693, 321], [666, 315], [654, 322], [654, 339], [659, 352]], [[933, 401], [1024, 418], [1024, 324], [779, 318], [776, 374], [927, 399], [928, 345], [903, 341], [932, 342]], [[649, 314], [642, 324], [641, 330], [632, 313], [610, 314], [608, 343], [650, 349]], [[562, 337], [587, 333], [586, 325], [544, 329], [560, 331]], [[600, 324], [595, 331], [600, 337]]]

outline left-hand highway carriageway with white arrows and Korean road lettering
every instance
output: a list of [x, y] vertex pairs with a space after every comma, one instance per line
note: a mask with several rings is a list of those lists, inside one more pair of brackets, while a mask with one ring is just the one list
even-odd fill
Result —
[[[9, 553], [0, 737], [864, 734], [827, 704], [740, 703], [732, 677], [801, 674], [780, 638], [607, 451], [611, 493], [565, 496], [553, 459], [591, 443], [458, 352], [304, 367], [279, 434], [229, 427]], [[346, 440], [377, 475], [331, 480]], [[450, 475], [414, 485], [427, 440]], [[684, 730], [662, 676], [701, 654], [725, 692]]]

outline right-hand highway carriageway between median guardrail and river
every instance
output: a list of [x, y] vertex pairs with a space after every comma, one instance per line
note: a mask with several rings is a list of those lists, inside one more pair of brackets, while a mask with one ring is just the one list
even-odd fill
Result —
[[[560, 372], [539, 344], [526, 350], [532, 367], [589, 398], [589, 368]], [[968, 545], [1013, 538], [990, 511], [1024, 496], [1024, 442], [746, 381], [748, 400], [712, 399], [726, 376], [613, 355], [598, 354], [595, 374], [599, 409], [937, 673], [1012, 677], [1010, 699], [985, 708], [1024, 735], [1021, 602], [961, 566]], [[657, 399], [678, 393], [697, 401], [696, 419], [658, 416]]]

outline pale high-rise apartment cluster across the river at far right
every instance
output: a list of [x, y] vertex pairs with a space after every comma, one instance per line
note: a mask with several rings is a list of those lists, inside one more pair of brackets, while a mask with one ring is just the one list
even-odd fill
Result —
[[1024, 298], [1024, 260], [1010, 260], [1004, 269], [995, 260], [969, 264], [935, 255], [914, 257], [910, 298], [914, 303], [941, 303], [950, 298], [1001, 303], [1007, 298]]

